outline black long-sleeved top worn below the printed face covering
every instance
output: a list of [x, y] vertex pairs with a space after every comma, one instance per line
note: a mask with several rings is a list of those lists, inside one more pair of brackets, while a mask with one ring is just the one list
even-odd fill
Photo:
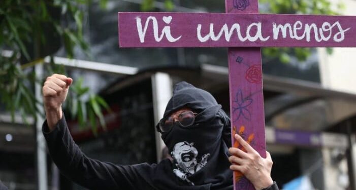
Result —
[[[86, 157], [73, 141], [64, 116], [53, 131], [49, 132], [46, 121], [42, 130], [49, 154], [60, 172], [89, 189], [157, 189], [155, 179], [162, 175], [174, 179], [169, 182], [176, 184], [175, 189], [200, 189], [180, 181], [173, 172], [166, 172], [172, 171], [172, 163], [168, 159], [159, 164], [122, 166]], [[202, 186], [201, 189], [206, 189], [207, 185]], [[274, 184], [267, 190], [278, 190], [278, 188]]]

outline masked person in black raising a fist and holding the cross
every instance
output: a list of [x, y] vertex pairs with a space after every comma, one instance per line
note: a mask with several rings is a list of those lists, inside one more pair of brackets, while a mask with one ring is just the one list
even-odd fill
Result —
[[210, 93], [185, 82], [175, 86], [156, 125], [173, 161], [122, 166], [87, 158], [73, 141], [61, 110], [71, 84], [72, 79], [64, 75], [47, 78], [43, 133], [54, 163], [74, 182], [89, 189], [223, 190], [233, 189], [232, 170], [236, 170], [256, 189], [278, 189], [270, 177], [270, 157], [261, 158], [242, 138], [237, 140], [247, 152], [230, 148], [229, 158], [229, 117]]

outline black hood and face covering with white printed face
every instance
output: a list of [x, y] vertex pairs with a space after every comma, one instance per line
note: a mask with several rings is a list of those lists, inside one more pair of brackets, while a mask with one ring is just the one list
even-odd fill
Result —
[[191, 185], [232, 185], [228, 145], [223, 140], [228, 136], [231, 142], [230, 120], [221, 105], [210, 93], [182, 82], [175, 87], [165, 117], [183, 107], [198, 113], [193, 125], [175, 123], [170, 131], [161, 133], [174, 159], [174, 174]]

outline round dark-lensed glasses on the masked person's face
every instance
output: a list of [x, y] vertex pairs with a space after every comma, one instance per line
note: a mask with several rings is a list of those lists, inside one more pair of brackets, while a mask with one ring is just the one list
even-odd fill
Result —
[[192, 111], [182, 111], [177, 117], [177, 122], [175, 122], [172, 116], [168, 118], [163, 118], [159, 121], [159, 130], [161, 132], [168, 132], [172, 129], [174, 123], [179, 123], [182, 127], [189, 127], [193, 125], [198, 113]]

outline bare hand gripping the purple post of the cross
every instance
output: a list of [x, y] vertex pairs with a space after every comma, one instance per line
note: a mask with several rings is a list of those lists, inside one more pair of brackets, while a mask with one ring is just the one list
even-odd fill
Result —
[[270, 153], [267, 158], [262, 158], [241, 136], [235, 135], [235, 139], [246, 150], [230, 148], [232, 155], [229, 161], [232, 163], [230, 169], [241, 172], [255, 187], [256, 190], [278, 190], [277, 185], [271, 178], [272, 159]]

